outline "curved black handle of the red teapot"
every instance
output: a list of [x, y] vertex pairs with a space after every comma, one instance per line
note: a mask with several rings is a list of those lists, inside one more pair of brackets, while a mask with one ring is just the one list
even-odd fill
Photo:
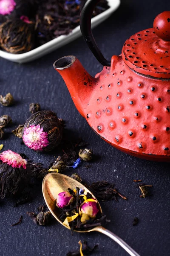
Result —
[[91, 52], [93, 52], [96, 59], [103, 66], [110, 67], [111, 61], [107, 61], [102, 55], [102, 52], [96, 44], [91, 31], [91, 17], [94, 12], [94, 8], [96, 7], [97, 3], [99, 3], [99, 1], [100, 0], [87, 0], [80, 14], [80, 29], [84, 40], [86, 41], [88, 47], [91, 49]]

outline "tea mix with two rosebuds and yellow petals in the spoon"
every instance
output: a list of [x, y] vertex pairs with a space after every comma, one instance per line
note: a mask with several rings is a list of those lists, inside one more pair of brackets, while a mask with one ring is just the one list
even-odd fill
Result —
[[58, 194], [56, 206], [63, 225], [73, 230], [88, 230], [102, 225], [106, 216], [102, 216], [96, 199], [90, 193], [84, 194], [78, 187]]

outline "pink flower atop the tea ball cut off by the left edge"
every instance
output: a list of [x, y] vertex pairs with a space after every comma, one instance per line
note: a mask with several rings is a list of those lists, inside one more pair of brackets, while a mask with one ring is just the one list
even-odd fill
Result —
[[3, 151], [0, 154], [0, 160], [3, 163], [7, 163], [8, 165], [11, 165], [13, 168], [20, 168], [21, 166], [23, 169], [26, 169], [27, 161], [23, 159], [20, 154], [17, 154], [10, 149]]

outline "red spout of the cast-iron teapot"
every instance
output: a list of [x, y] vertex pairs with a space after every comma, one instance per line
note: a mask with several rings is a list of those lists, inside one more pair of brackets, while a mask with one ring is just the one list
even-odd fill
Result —
[[85, 117], [85, 108], [98, 79], [89, 75], [80, 61], [72, 55], [58, 59], [53, 66], [64, 79], [77, 110]]

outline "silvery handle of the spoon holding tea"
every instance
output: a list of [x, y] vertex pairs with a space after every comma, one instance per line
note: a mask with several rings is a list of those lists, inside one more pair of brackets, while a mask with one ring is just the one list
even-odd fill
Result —
[[102, 226], [94, 227], [91, 231], [98, 231], [102, 234], [105, 234], [106, 236], [109, 236], [111, 239], [113, 239], [116, 243], [118, 243], [127, 253], [129, 253], [131, 256], [140, 256], [136, 251], [134, 251], [128, 244], [125, 243], [119, 236], [116, 236], [111, 231], [105, 229]]

